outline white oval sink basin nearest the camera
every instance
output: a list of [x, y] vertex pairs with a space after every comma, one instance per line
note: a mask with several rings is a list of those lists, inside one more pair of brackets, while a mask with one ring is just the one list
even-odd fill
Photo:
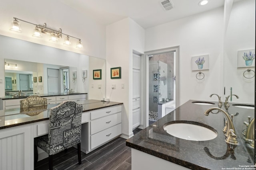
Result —
[[164, 125], [164, 130], [174, 137], [190, 141], [208, 141], [218, 135], [214, 128], [195, 121], [171, 121]]

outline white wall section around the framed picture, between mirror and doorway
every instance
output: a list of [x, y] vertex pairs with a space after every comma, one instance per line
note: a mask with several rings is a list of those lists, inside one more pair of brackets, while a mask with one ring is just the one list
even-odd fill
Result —
[[[123, 102], [122, 133], [132, 133], [132, 51], [144, 53], [144, 29], [130, 18], [106, 28], [106, 98]], [[121, 79], [110, 79], [110, 68], [121, 67]], [[121, 84], [124, 83], [124, 88]], [[112, 84], [116, 89], [112, 90]]]

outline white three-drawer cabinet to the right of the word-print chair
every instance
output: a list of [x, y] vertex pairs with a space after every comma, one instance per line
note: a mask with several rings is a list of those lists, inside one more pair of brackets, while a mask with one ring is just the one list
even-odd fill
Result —
[[82, 124], [81, 150], [85, 153], [104, 145], [122, 133], [122, 105], [88, 111], [83, 115], [84, 117], [90, 115], [90, 121]]

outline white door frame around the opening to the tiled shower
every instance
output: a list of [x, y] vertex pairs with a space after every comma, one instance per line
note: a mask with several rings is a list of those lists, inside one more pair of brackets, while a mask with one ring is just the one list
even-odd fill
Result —
[[159, 53], [168, 53], [168, 52], [176, 52], [176, 56], [174, 58], [174, 63], [175, 63], [175, 76], [176, 76], [176, 80], [175, 80], [175, 87], [176, 87], [176, 91], [175, 91], [175, 105], [176, 105], [176, 108], [180, 106], [180, 69], [179, 69], [179, 66], [180, 66], [180, 46], [175, 46], [175, 47], [168, 47], [168, 48], [164, 48], [164, 49], [157, 49], [157, 50], [152, 50], [152, 51], [146, 51], [143, 55], [143, 58], [144, 58], [144, 62], [145, 63], [143, 65], [143, 70], [145, 72], [145, 76], [144, 78], [142, 79], [142, 87], [146, 87], [146, 88], [143, 88], [143, 96], [144, 96], [144, 101], [146, 102], [143, 102], [143, 110], [144, 112], [142, 113], [146, 113], [146, 114], [143, 114], [143, 128], [146, 128], [148, 127], [148, 106], [149, 106], [149, 88], [148, 88], [148, 85], [149, 85], [149, 80], [148, 80], [148, 56], [150, 55], [156, 55], [156, 54], [159, 54]]

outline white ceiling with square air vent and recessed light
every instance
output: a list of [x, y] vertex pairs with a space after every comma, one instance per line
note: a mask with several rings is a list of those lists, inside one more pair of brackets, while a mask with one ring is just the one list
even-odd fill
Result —
[[[162, 0], [163, 1], [163, 0]], [[60, 0], [83, 15], [108, 25], [130, 17], [144, 29], [224, 6], [224, 0], [171, 0], [174, 8], [164, 11], [161, 0]]]

